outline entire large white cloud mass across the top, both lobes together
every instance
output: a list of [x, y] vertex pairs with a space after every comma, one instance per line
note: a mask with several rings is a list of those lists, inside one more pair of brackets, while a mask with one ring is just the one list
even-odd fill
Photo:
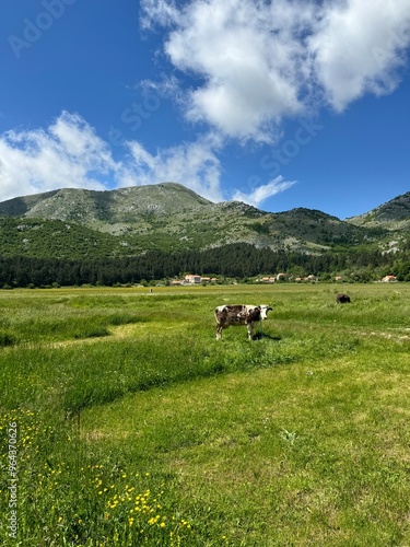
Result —
[[[284, 117], [390, 93], [410, 45], [408, 0], [141, 0], [167, 31], [185, 114], [243, 141], [274, 140]], [[184, 85], [184, 84], [183, 84]]]

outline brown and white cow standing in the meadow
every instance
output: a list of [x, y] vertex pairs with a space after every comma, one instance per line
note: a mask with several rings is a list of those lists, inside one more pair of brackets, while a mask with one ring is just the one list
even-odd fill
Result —
[[254, 325], [268, 318], [269, 305], [231, 304], [215, 307], [216, 340], [222, 338], [222, 330], [231, 325], [246, 325], [251, 340]]

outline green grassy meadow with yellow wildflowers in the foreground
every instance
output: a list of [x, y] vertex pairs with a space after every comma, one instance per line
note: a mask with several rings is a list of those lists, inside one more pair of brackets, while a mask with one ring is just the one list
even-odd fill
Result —
[[410, 283], [0, 291], [2, 545], [410, 546], [409, 350]]

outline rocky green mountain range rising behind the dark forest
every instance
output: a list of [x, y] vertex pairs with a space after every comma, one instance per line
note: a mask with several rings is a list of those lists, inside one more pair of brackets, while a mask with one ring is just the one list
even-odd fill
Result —
[[321, 254], [393, 252], [410, 238], [410, 193], [347, 220], [296, 208], [214, 203], [176, 183], [116, 190], [63, 188], [0, 202], [0, 256], [108, 257], [230, 243]]

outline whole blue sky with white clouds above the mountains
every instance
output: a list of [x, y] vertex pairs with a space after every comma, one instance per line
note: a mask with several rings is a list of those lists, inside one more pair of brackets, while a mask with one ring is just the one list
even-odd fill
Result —
[[0, 200], [178, 182], [340, 219], [410, 190], [408, 0], [2, 0]]

